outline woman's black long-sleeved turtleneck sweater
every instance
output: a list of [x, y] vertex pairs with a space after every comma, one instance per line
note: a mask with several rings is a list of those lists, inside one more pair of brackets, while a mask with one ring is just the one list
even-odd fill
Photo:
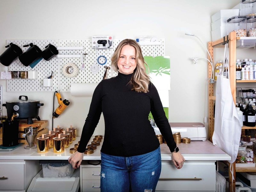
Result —
[[136, 156], [159, 147], [148, 114], [151, 111], [171, 151], [176, 148], [170, 124], [156, 90], [150, 83], [149, 92], [131, 91], [128, 84], [132, 74], [118, 73], [96, 87], [88, 116], [85, 120], [78, 152], [83, 153], [97, 126], [101, 112], [105, 121], [105, 134], [101, 152], [113, 156]]

